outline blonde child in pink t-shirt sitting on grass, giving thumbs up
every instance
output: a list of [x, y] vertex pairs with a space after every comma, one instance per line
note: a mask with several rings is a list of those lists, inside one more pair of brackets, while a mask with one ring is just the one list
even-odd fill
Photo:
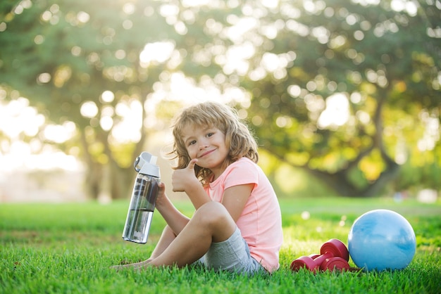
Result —
[[278, 269], [280, 206], [256, 165], [256, 141], [235, 111], [214, 102], [191, 106], [178, 116], [173, 136], [173, 191], [187, 193], [196, 211], [191, 219], [182, 215], [161, 183], [156, 209], [167, 226], [148, 260], [119, 267], [184, 267], [200, 260], [216, 271]]

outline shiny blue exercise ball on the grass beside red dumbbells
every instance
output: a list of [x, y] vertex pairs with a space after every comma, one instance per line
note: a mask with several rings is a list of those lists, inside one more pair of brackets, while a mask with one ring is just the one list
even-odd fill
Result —
[[404, 269], [415, 255], [415, 232], [399, 213], [371, 210], [352, 224], [348, 250], [356, 266], [365, 271]]

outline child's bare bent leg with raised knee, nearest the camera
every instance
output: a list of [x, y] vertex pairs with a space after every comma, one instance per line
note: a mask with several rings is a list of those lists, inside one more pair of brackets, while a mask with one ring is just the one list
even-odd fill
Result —
[[221, 203], [206, 203], [199, 207], [187, 226], [167, 246], [165, 241], [170, 241], [171, 230], [164, 230], [163, 234], [166, 234], [166, 237], [161, 236], [164, 246], [160, 247], [158, 244], [156, 246], [158, 250], [155, 249], [151, 255], [153, 259], [143, 265], [161, 267], [176, 264], [178, 267], [183, 267], [191, 264], [209, 250], [212, 242], [227, 240], [235, 229], [234, 220]]

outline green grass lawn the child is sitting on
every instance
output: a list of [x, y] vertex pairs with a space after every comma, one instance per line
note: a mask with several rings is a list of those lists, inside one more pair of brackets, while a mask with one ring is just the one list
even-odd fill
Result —
[[[149, 256], [164, 225], [155, 213], [146, 245], [123, 241], [128, 200], [110, 205], [1, 204], [0, 293], [441, 293], [441, 203], [347, 198], [280, 200], [285, 243], [272, 276], [237, 276], [200, 268], [113, 271]], [[178, 203], [191, 215], [189, 203]], [[290, 271], [330, 238], [347, 243], [356, 217], [376, 208], [401, 213], [417, 250], [399, 271]], [[309, 219], [302, 218], [309, 212]], [[352, 266], [355, 266], [352, 261]]]

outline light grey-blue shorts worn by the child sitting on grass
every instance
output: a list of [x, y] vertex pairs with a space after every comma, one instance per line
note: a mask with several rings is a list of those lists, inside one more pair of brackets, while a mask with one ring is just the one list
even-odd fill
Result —
[[248, 244], [237, 227], [227, 240], [211, 243], [209, 251], [201, 257], [199, 262], [215, 271], [225, 270], [240, 274], [266, 272], [262, 265], [249, 254]]

